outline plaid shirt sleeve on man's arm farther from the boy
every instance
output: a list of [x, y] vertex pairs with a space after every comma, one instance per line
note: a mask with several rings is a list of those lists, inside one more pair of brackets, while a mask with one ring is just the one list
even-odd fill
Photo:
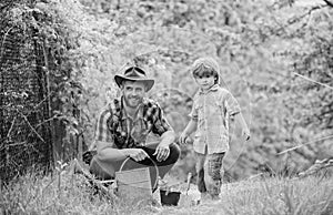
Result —
[[109, 142], [112, 143], [112, 134], [108, 129], [108, 119], [111, 116], [109, 110], [103, 110], [99, 115], [97, 126], [95, 126], [95, 141]]

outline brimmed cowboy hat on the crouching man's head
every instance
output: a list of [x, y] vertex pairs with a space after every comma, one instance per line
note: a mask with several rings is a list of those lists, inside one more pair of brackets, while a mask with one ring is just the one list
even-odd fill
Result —
[[142, 81], [145, 83], [145, 91], [150, 91], [154, 85], [153, 79], [148, 79], [145, 72], [138, 66], [131, 66], [124, 71], [123, 74], [115, 74], [114, 81], [119, 88], [121, 88], [121, 83], [123, 81]]

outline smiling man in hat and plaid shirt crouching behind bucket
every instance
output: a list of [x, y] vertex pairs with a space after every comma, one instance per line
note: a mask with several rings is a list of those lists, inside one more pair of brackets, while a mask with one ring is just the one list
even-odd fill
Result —
[[[115, 75], [114, 81], [121, 96], [100, 113], [95, 130], [97, 155], [90, 162], [90, 172], [101, 180], [114, 178], [123, 161], [130, 157], [142, 165], [154, 163], [163, 178], [178, 161], [180, 149], [159, 104], [145, 98], [154, 80], [148, 79], [142, 69], [131, 66]], [[158, 134], [160, 141], [147, 145], [150, 132]]]

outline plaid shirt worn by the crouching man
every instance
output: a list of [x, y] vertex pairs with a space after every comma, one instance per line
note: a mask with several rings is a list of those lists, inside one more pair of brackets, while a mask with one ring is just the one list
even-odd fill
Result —
[[95, 140], [109, 142], [118, 149], [135, 147], [145, 144], [150, 132], [161, 136], [167, 131], [172, 131], [172, 127], [155, 101], [144, 98], [132, 120], [127, 115], [122, 99], [117, 98], [101, 112]]

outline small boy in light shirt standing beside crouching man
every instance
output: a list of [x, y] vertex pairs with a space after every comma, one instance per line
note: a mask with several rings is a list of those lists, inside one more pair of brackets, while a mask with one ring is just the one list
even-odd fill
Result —
[[185, 143], [186, 137], [196, 130], [193, 149], [201, 202], [219, 199], [222, 160], [229, 150], [229, 117], [234, 116], [241, 124], [246, 141], [250, 130], [234, 96], [219, 85], [219, 64], [214, 59], [198, 59], [193, 63], [192, 75], [200, 89], [194, 95], [191, 121], [182, 132], [180, 143]]

